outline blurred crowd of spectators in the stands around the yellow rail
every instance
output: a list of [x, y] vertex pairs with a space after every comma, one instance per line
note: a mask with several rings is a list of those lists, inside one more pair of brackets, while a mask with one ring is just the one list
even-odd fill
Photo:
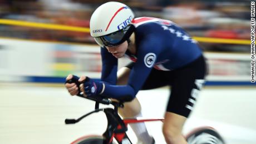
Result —
[[[102, 0], [0, 0], [0, 18], [21, 21], [89, 27], [90, 16]], [[215, 38], [250, 38], [250, 3], [246, 1], [146, 1], [126, 0], [136, 17], [170, 19], [192, 36]], [[1, 37], [40, 39], [77, 43], [95, 43], [90, 33], [56, 31], [43, 28], [0, 25]], [[249, 51], [249, 46], [203, 43], [211, 51]], [[228, 48], [227, 48], [228, 47]]]

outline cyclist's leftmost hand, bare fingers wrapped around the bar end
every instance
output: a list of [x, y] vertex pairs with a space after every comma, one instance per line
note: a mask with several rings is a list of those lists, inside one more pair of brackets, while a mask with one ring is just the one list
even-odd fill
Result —
[[78, 80], [78, 78], [79, 77], [73, 76], [73, 75], [68, 75], [66, 78], [65, 87], [67, 88], [67, 90], [71, 96], [77, 95], [80, 92], [80, 90], [78, 89], [77, 83], [75, 83], [75, 82], [68, 83], [68, 81], [72, 80], [72, 79], [73, 79], [73, 81], [76, 81], [76, 80]]

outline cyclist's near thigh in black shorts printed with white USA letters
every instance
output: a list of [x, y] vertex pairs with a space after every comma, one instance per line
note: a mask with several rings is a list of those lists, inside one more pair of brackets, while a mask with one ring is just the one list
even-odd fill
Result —
[[173, 74], [168, 112], [188, 117], [196, 102], [205, 77], [205, 61], [203, 57], [196, 59]]

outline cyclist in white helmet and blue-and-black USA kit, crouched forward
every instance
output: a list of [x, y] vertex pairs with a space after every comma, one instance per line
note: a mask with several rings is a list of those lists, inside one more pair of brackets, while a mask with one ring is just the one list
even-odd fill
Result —
[[[169, 20], [134, 18], [131, 9], [119, 2], [107, 2], [93, 12], [90, 32], [101, 47], [101, 81], [82, 76], [80, 88], [75, 83], [65, 84], [70, 94], [81, 91], [85, 97], [99, 95], [126, 101], [119, 113], [130, 118], [141, 116], [141, 106], [135, 97], [139, 90], [171, 86], [163, 125], [165, 141], [187, 143], [181, 131], [206, 73], [197, 42]], [[123, 56], [132, 62], [117, 72], [117, 59]], [[69, 75], [67, 80], [71, 78]], [[154, 143], [144, 123], [131, 127], [141, 143]]]

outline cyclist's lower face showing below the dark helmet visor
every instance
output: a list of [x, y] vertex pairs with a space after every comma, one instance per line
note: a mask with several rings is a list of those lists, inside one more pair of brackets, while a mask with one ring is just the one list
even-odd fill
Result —
[[118, 46], [115, 47], [107, 47], [107, 51], [109, 51], [110, 53], [112, 53], [112, 55], [116, 58], [121, 58], [125, 55], [125, 52], [128, 48], [128, 43], [127, 41], [119, 44]]

